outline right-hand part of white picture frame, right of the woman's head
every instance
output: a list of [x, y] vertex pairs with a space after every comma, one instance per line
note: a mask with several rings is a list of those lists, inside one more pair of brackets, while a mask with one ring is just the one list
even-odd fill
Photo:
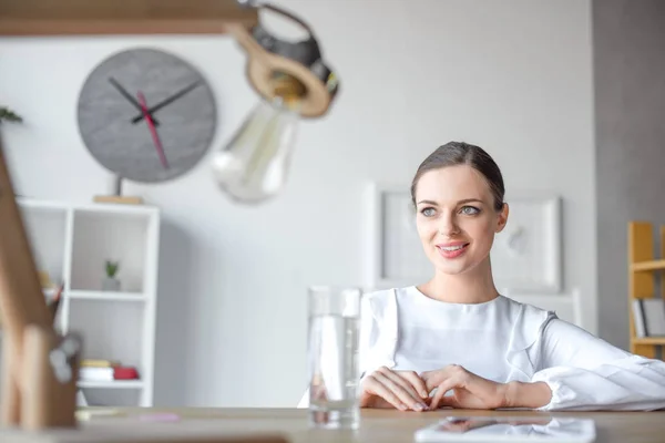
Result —
[[511, 293], [557, 293], [562, 281], [562, 199], [520, 194], [507, 198], [508, 224], [494, 237], [494, 284]]

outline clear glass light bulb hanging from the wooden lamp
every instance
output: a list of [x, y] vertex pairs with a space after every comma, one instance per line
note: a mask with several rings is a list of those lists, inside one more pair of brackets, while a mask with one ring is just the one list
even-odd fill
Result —
[[262, 203], [284, 188], [300, 120], [297, 110], [297, 104], [280, 96], [259, 102], [229, 143], [215, 153], [215, 181], [234, 200]]

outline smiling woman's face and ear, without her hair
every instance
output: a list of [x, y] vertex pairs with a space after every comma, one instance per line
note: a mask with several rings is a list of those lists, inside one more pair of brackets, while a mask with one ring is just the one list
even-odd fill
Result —
[[484, 261], [494, 234], [508, 219], [508, 205], [497, 212], [487, 179], [468, 165], [424, 173], [416, 188], [416, 204], [424, 253], [444, 274], [462, 274]]

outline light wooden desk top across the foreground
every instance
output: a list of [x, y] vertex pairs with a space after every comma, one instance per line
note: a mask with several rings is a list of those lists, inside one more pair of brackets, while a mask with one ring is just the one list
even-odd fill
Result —
[[[93, 410], [93, 409], [91, 409]], [[85, 432], [81, 439], [71, 432], [61, 433], [58, 439], [44, 435], [40, 442], [96, 442], [106, 441], [103, 435], [121, 435], [136, 433], [141, 427], [177, 436], [194, 431], [201, 434], [243, 435], [248, 433], [280, 434], [286, 441], [301, 442], [412, 442], [413, 432], [427, 426], [438, 419], [451, 414], [467, 415], [521, 415], [521, 416], [582, 416], [596, 421], [598, 443], [656, 443], [665, 440], [665, 412], [575, 412], [575, 413], [536, 413], [533, 411], [461, 411], [440, 410], [436, 412], [399, 412], [386, 410], [362, 410], [362, 423], [357, 431], [310, 430], [307, 423], [307, 411], [297, 409], [117, 409], [121, 415], [93, 416], [82, 422], [82, 426], [96, 432]], [[145, 414], [173, 413], [180, 416], [178, 422], [150, 423], [141, 420]], [[8, 433], [8, 431], [4, 431]], [[153, 432], [151, 432], [153, 433]], [[69, 434], [69, 436], [68, 436]], [[0, 433], [3, 442], [35, 442], [24, 440], [10, 432]], [[6, 436], [17, 437], [16, 440]], [[194, 436], [194, 435], [193, 435]], [[131, 440], [127, 440], [131, 441]], [[194, 437], [192, 442], [198, 442]]]

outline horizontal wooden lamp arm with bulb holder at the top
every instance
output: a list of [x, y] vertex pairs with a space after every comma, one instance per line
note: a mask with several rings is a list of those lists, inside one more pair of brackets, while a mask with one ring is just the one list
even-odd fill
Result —
[[[260, 10], [299, 24], [309, 37], [295, 43], [280, 40], [262, 25]], [[303, 117], [324, 115], [339, 89], [309, 25], [263, 1], [0, 0], [0, 37], [109, 34], [231, 34], [247, 53], [247, 80], [262, 97], [275, 99], [276, 73], [304, 86]]]

